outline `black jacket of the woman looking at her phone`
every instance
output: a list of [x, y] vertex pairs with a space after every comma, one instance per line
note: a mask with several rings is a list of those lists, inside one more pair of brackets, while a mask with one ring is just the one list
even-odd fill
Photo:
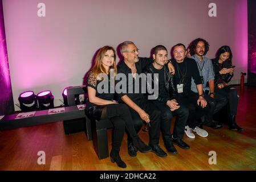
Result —
[[220, 71], [222, 68], [220, 68], [220, 65], [218, 63], [218, 58], [212, 59], [212, 62], [213, 62], [213, 70], [215, 74], [215, 80], [214, 80], [215, 85], [224, 84], [224, 82], [225, 83], [230, 82], [233, 75], [230, 75], [229, 73], [225, 75], [220, 74]]

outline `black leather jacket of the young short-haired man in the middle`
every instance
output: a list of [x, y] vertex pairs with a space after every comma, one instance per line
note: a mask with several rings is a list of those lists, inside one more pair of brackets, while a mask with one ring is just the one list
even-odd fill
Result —
[[[154, 74], [154, 69], [153, 69], [153, 64], [149, 64], [145, 69], [144, 69], [144, 73], [152, 73]], [[176, 84], [175, 84], [175, 80], [174, 80], [174, 76], [169, 73], [169, 69], [167, 67], [167, 65], [164, 65], [164, 77], [165, 77], [165, 89], [166, 92], [169, 93], [169, 100], [173, 100], [176, 99], [177, 100], [177, 88], [176, 88]], [[154, 82], [154, 77], [152, 75], [152, 85]], [[166, 98], [162, 97], [160, 94], [157, 98], [155, 98], [157, 101], [160, 102], [164, 102], [166, 104], [166, 102], [168, 100], [166, 100]]]

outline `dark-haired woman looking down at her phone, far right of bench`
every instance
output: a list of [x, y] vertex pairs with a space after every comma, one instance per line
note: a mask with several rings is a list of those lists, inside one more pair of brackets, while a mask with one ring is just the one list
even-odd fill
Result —
[[229, 46], [222, 46], [218, 49], [217, 57], [212, 59], [215, 73], [215, 92], [222, 94], [229, 100], [229, 129], [233, 131], [243, 131], [235, 122], [239, 96], [237, 89], [227, 83], [234, 75], [232, 65], [232, 52]]

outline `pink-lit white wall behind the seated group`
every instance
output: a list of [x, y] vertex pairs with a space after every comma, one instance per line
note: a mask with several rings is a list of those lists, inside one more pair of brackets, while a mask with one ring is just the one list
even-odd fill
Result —
[[[41, 2], [46, 17], [39, 18]], [[208, 16], [211, 2], [217, 17]], [[231, 47], [233, 83], [247, 72], [246, 0], [3, 0], [3, 10], [14, 103], [25, 90], [50, 89], [62, 98], [66, 86], [83, 84], [97, 49], [125, 40], [149, 56], [157, 44], [170, 49], [205, 38], [210, 58], [224, 44]]]

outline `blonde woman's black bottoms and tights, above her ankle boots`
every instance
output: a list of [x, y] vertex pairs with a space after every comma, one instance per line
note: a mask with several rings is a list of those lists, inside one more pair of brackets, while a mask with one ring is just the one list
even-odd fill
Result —
[[[125, 128], [132, 138], [137, 137], [137, 133], [133, 127], [131, 114], [128, 106], [125, 104], [93, 106], [90, 109], [86, 109], [86, 112], [93, 118], [108, 118], [113, 123], [112, 149], [115, 151], [120, 150]], [[99, 113], [101, 113], [101, 116]]]

